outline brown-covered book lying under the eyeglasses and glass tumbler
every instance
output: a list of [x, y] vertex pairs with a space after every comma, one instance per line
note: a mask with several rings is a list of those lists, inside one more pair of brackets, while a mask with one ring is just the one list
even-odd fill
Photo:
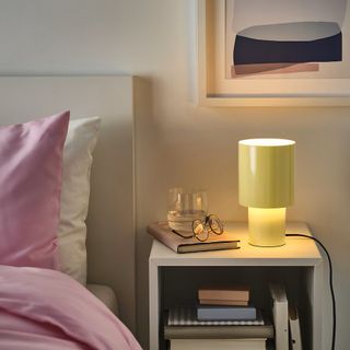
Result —
[[154, 238], [176, 253], [194, 253], [240, 248], [240, 240], [232, 233], [224, 232], [221, 235], [210, 234], [206, 242], [195, 237], [184, 238], [174, 233], [167, 222], [156, 222], [148, 225], [147, 231]]

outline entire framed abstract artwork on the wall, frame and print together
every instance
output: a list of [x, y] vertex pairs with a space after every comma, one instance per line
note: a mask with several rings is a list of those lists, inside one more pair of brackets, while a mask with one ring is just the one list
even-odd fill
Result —
[[350, 0], [198, 0], [199, 103], [350, 105]]

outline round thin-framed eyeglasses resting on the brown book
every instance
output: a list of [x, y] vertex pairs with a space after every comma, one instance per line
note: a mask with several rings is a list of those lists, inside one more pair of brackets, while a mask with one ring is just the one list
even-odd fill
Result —
[[205, 221], [196, 219], [192, 221], [192, 234], [184, 235], [179, 231], [172, 230], [183, 238], [197, 238], [200, 242], [206, 242], [209, 238], [209, 234], [212, 232], [217, 235], [223, 233], [223, 224], [220, 219], [214, 214], [206, 215]]

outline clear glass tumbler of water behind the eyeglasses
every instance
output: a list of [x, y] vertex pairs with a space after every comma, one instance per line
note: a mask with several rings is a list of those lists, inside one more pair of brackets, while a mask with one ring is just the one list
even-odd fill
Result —
[[168, 190], [167, 222], [171, 229], [191, 234], [192, 221], [206, 221], [208, 212], [207, 191], [182, 187]]

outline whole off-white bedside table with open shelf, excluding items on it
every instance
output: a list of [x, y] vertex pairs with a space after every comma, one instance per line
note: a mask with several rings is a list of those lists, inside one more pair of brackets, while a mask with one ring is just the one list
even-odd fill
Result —
[[[281, 247], [247, 243], [246, 223], [226, 223], [241, 240], [240, 249], [176, 254], [154, 241], [149, 258], [150, 349], [165, 350], [163, 312], [172, 305], [197, 302], [202, 285], [249, 285], [252, 299], [268, 307], [270, 282], [282, 283], [299, 307], [303, 350], [322, 349], [323, 259], [312, 240], [287, 237]], [[289, 223], [287, 233], [311, 235], [305, 223]]]

